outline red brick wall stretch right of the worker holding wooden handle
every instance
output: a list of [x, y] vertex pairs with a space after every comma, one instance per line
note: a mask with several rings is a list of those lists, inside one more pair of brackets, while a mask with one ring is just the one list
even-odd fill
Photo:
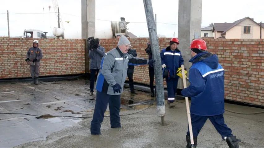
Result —
[[225, 97], [264, 106], [264, 39], [205, 39], [225, 69]]

